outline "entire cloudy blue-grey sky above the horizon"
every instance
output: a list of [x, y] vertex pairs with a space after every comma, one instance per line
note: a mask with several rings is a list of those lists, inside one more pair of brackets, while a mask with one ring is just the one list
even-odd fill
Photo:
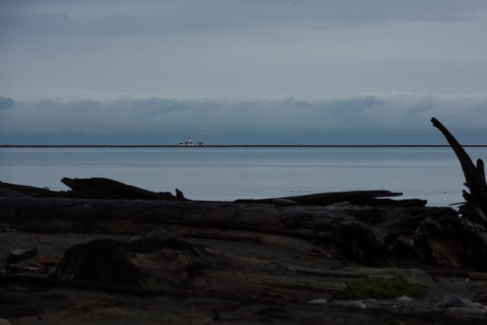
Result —
[[485, 0], [0, 0], [0, 144], [487, 144]]

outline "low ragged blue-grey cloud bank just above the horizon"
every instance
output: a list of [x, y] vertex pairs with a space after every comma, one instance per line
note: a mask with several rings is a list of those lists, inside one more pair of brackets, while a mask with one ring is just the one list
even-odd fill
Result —
[[[9, 99], [14, 102], [0, 97], [0, 107]], [[43, 142], [44, 137], [53, 144], [101, 143], [103, 139], [113, 144], [133, 143], [134, 139], [137, 143], [165, 144], [191, 135], [206, 142], [211, 139], [213, 143], [228, 144], [339, 144], [340, 139], [341, 143], [355, 144], [436, 144], [441, 137], [434, 135], [431, 116], [452, 130], [470, 134], [466, 138], [470, 143], [487, 139], [483, 131], [487, 130], [487, 95], [14, 103], [15, 107], [0, 110], [1, 143], [32, 142], [29, 139]], [[154, 136], [158, 141], [154, 142]], [[216, 141], [219, 138], [225, 140]]]

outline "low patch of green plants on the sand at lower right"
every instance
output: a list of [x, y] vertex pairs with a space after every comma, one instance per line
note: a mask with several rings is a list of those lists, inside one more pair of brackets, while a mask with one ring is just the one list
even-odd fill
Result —
[[393, 299], [401, 296], [423, 297], [427, 290], [415, 283], [401, 279], [359, 279], [347, 283], [345, 296], [353, 299], [382, 298]]

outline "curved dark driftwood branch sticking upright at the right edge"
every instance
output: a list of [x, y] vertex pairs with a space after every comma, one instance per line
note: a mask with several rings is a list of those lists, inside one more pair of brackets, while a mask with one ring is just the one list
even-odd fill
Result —
[[467, 205], [472, 208], [484, 225], [487, 225], [487, 184], [484, 162], [482, 159], [478, 159], [475, 166], [450, 131], [434, 117], [431, 118], [431, 122], [445, 136], [448, 143], [450, 143], [451, 149], [453, 149], [458, 160], [460, 160], [463, 174], [465, 175], [465, 186], [470, 190], [470, 193], [463, 191], [463, 197], [467, 201]]

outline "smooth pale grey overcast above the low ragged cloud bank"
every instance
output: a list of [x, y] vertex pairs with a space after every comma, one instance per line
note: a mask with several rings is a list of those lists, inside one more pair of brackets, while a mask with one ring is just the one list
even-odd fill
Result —
[[485, 0], [0, 1], [0, 15], [0, 91], [16, 100], [487, 89]]

